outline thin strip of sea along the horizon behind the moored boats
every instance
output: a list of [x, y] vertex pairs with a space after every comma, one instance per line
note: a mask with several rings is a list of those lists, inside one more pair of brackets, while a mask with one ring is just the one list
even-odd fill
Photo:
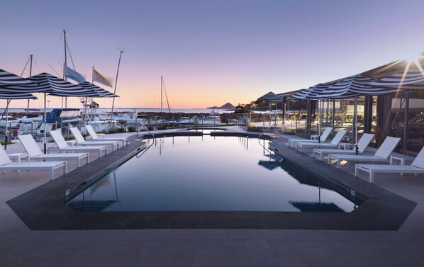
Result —
[[[48, 109], [48, 111], [51, 108]], [[111, 108], [101, 108], [104, 112], [111, 112]], [[171, 108], [171, 113], [233, 113], [234, 110], [223, 110], [223, 109], [212, 109], [212, 108]], [[43, 109], [30, 109], [30, 112], [43, 112]], [[81, 111], [84, 111], [81, 109]], [[133, 113], [137, 111], [138, 113], [147, 113], [147, 112], [155, 112], [160, 113], [160, 108], [113, 108], [113, 113]], [[162, 108], [162, 113], [168, 113], [169, 110], [167, 108]], [[26, 108], [9, 108], [9, 113], [26, 113]]]

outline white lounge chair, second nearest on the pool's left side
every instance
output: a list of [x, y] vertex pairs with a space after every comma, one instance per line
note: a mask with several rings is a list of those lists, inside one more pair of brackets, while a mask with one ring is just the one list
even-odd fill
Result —
[[89, 154], [88, 153], [52, 153], [52, 154], [43, 154], [38, 144], [35, 142], [32, 135], [19, 135], [19, 141], [21, 141], [23, 148], [28, 153], [29, 159], [35, 160], [75, 160], [77, 161], [77, 168], [80, 166], [80, 160], [85, 159], [86, 164], [89, 163]]

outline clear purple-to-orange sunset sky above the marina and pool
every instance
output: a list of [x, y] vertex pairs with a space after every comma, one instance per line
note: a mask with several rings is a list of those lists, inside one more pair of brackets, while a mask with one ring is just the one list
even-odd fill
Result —
[[[62, 74], [65, 29], [87, 81], [93, 65], [115, 79], [117, 47], [125, 48], [116, 108], [159, 108], [161, 75], [171, 108], [237, 105], [418, 54], [423, 10], [422, 0], [4, 1], [0, 69], [21, 75], [32, 54], [33, 75]], [[43, 106], [38, 96], [31, 108]]]

